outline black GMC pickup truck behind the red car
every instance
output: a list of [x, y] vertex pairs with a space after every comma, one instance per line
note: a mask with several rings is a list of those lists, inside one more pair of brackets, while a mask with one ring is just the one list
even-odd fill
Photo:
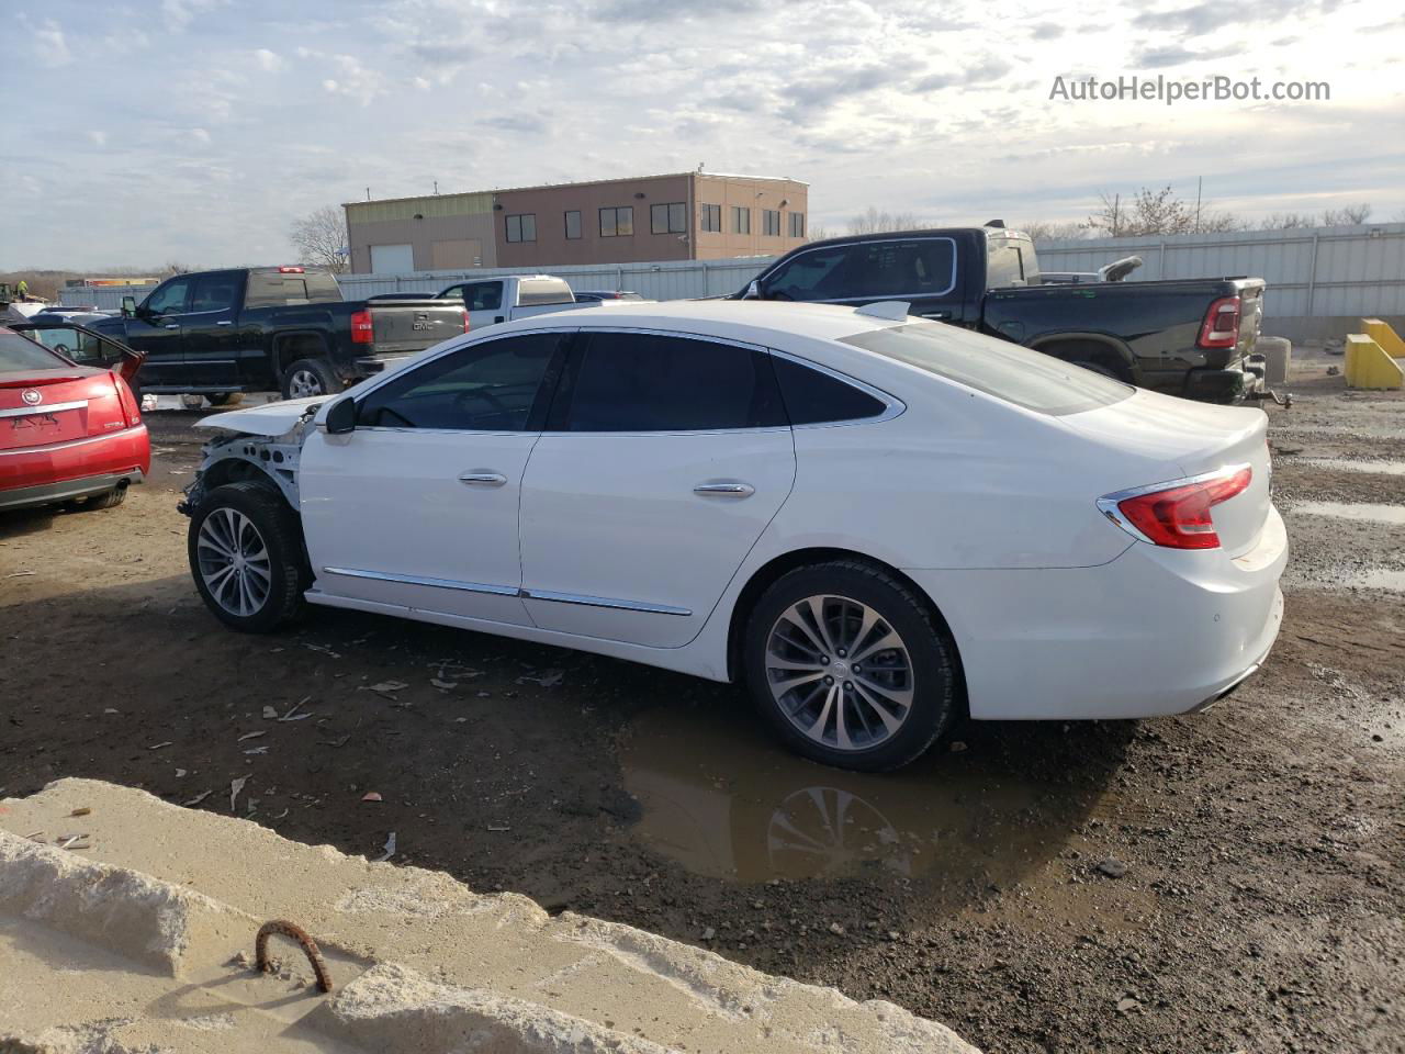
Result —
[[340, 392], [464, 333], [468, 315], [462, 304], [344, 301], [323, 268], [251, 267], [177, 274], [91, 329], [146, 354], [143, 392], [200, 393], [218, 406], [235, 392]]

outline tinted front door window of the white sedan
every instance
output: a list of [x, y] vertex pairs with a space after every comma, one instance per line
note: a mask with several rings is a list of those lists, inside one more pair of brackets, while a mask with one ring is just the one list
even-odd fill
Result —
[[561, 333], [524, 333], [436, 358], [371, 392], [358, 423], [523, 431], [561, 340]]

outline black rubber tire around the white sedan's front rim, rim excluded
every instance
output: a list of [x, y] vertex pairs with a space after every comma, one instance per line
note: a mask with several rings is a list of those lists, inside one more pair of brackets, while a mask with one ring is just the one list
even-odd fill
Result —
[[[226, 611], [211, 596], [200, 573], [197, 542], [200, 528], [218, 509], [235, 509], [254, 524], [268, 549], [268, 564], [273, 573], [268, 600], [251, 616], [237, 616]], [[187, 535], [187, 558], [195, 589], [205, 607], [232, 630], [242, 632], [271, 632], [291, 621], [302, 606], [302, 590], [306, 587], [306, 561], [298, 535], [298, 519], [281, 495], [260, 483], [239, 482], [216, 486], [191, 513]]]

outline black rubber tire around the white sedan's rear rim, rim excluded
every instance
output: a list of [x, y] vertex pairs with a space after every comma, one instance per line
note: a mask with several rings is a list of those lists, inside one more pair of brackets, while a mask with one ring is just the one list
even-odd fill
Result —
[[[771, 698], [766, 679], [766, 644], [771, 627], [791, 604], [821, 593], [844, 596], [878, 611], [902, 637], [912, 659], [917, 689], [912, 713], [896, 735], [868, 750], [836, 750], [816, 743], [795, 728]], [[960, 676], [954, 644], [909, 585], [877, 568], [840, 562], [784, 575], [752, 610], [742, 658], [752, 701], [771, 729], [797, 753], [837, 769], [899, 769], [924, 753], [957, 713]]]

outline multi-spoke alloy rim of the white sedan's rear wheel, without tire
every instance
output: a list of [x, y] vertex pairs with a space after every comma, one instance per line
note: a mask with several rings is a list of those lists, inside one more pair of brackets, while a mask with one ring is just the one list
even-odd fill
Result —
[[766, 641], [766, 682], [797, 729], [836, 750], [878, 746], [912, 713], [908, 645], [850, 597], [809, 596], [785, 609]]

